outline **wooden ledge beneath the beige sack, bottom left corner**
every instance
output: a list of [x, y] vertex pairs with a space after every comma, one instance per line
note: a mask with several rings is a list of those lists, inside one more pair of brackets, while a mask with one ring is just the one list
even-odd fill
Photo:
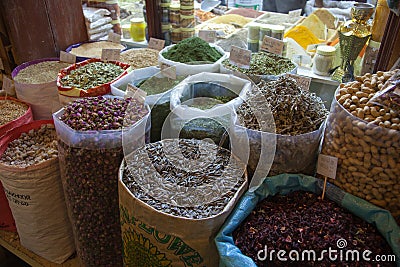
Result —
[[75, 256], [64, 262], [63, 264], [56, 264], [32, 253], [26, 248], [21, 246], [17, 233], [1, 231], [0, 230], [0, 245], [25, 261], [32, 267], [79, 267], [78, 258]]

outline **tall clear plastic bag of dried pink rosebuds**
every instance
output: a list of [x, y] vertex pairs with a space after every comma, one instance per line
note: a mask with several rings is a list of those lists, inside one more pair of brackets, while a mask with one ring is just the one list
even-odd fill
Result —
[[122, 266], [118, 169], [123, 146], [144, 144], [149, 115], [135, 99], [108, 96], [82, 98], [53, 114], [65, 200], [84, 266]]

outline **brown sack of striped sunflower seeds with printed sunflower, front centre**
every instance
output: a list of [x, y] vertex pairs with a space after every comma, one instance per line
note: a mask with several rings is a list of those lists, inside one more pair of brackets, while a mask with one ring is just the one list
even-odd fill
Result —
[[124, 265], [218, 266], [213, 240], [247, 188], [245, 164], [188, 139], [125, 155], [118, 185]]

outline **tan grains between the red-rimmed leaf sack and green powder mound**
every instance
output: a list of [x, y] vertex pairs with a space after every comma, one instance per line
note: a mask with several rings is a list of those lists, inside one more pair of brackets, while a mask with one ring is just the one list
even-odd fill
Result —
[[158, 51], [149, 48], [129, 49], [121, 53], [119, 61], [130, 65], [133, 69], [157, 66]]

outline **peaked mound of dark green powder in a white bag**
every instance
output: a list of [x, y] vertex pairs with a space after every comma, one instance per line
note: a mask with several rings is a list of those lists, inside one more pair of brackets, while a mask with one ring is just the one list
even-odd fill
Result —
[[211, 47], [199, 37], [187, 38], [174, 45], [163, 57], [175, 62], [191, 63], [196, 61], [216, 62], [222, 57], [217, 49]]

